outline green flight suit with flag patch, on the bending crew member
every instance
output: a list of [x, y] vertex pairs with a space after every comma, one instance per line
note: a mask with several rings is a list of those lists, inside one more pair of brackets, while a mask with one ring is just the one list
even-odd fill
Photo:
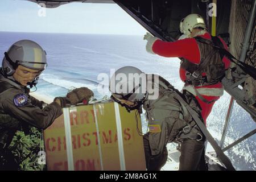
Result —
[[[149, 129], [149, 132], [143, 136], [147, 169], [160, 170], [167, 161], [167, 143], [179, 141], [182, 142], [179, 169], [197, 170], [201, 162], [205, 164], [203, 160], [205, 138], [176, 94], [183, 97], [199, 115], [200, 107], [196, 99], [188, 94], [181, 94], [160, 76], [157, 85], [159, 97], [155, 100], [147, 99], [143, 104]], [[188, 125], [190, 129], [183, 131]]]

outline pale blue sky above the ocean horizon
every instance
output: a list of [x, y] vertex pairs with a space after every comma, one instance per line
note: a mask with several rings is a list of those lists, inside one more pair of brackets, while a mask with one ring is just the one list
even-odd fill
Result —
[[29, 1], [0, 1], [0, 31], [143, 35], [146, 30], [115, 3], [69, 3], [43, 9]]

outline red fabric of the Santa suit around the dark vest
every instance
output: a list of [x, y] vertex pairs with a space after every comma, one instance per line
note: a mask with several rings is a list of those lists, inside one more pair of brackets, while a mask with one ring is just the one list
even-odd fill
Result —
[[[211, 39], [211, 36], [208, 32], [200, 36], [205, 39]], [[224, 44], [224, 47], [228, 49], [228, 46], [224, 40], [220, 40]], [[177, 40], [176, 42], [164, 42], [162, 40], [156, 40], [154, 44], [152, 44], [152, 52], [164, 57], [183, 57], [184, 59], [187, 59], [194, 64], [199, 64], [201, 60], [199, 46], [197, 45], [196, 40], [193, 38]], [[222, 61], [225, 64], [225, 69], [228, 69], [230, 66], [230, 60], [224, 56]], [[186, 79], [185, 73], [185, 69], [180, 68], [180, 78], [182, 81], [185, 81]], [[205, 73], [202, 75], [204, 74]], [[207, 117], [210, 114], [210, 111], [212, 111], [214, 102], [218, 100], [220, 96], [222, 96], [224, 89], [221, 82], [218, 82], [214, 85], [196, 86], [195, 89], [197, 89], [201, 96], [203, 96], [207, 101], [213, 101], [210, 104], [207, 104], [196, 96], [196, 99], [202, 109], [202, 117], [206, 123]]]

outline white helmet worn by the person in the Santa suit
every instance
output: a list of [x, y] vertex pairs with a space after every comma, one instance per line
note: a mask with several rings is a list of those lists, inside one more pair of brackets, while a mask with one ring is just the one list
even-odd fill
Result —
[[190, 14], [183, 18], [180, 22], [180, 32], [189, 36], [193, 28], [206, 28], [204, 19], [199, 14]]

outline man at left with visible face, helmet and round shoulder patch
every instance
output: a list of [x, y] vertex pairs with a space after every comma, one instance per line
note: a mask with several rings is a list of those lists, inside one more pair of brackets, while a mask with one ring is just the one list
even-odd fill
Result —
[[56, 97], [47, 105], [30, 96], [27, 86], [35, 86], [46, 67], [46, 52], [31, 40], [20, 40], [5, 52], [0, 71], [0, 170], [18, 169], [8, 148], [17, 130], [46, 129], [70, 103], [67, 97]]

